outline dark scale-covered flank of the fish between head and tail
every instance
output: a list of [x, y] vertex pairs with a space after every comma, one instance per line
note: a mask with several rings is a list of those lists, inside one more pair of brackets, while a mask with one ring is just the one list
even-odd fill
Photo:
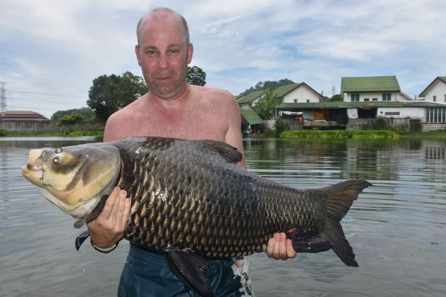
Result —
[[[167, 141], [167, 143], [157, 141], [143, 143], [140, 147], [134, 147], [134, 145], [130, 147], [130, 150], [139, 153], [127, 154], [129, 159], [125, 164], [128, 166], [125, 166], [123, 176], [125, 174], [132, 175], [134, 170], [137, 170], [139, 175], [144, 177], [147, 168], [151, 168], [150, 171], [153, 172], [150, 179], [140, 179], [141, 184], [120, 184], [122, 188], [127, 188], [131, 197], [141, 197], [140, 200], [132, 200], [132, 203], [140, 204], [137, 207], [140, 215], [139, 223], [128, 225], [126, 230], [125, 236], [130, 241], [148, 248], [193, 247], [208, 257], [233, 257], [264, 251], [266, 249], [265, 242], [273, 232], [284, 231], [293, 223], [294, 225], [296, 223], [298, 225], [305, 225], [305, 223], [316, 225], [315, 222], [309, 221], [307, 216], [294, 218], [290, 216], [292, 210], [300, 205], [299, 203], [293, 204], [293, 200], [299, 201], [290, 199], [289, 188], [266, 182], [266, 180], [259, 182], [241, 169], [238, 170], [238, 175], [234, 175], [233, 168], [228, 170], [229, 168], [226, 166], [229, 164], [221, 162], [220, 159], [217, 159], [219, 162], [215, 163], [214, 157], [210, 158], [205, 155], [200, 158], [197, 156], [192, 145], [176, 147], [173, 144], [171, 141]], [[171, 152], [170, 150], [175, 151]], [[121, 149], [121, 155], [124, 154], [125, 152], [122, 152]], [[197, 166], [193, 166], [194, 164], [189, 163], [188, 160], [201, 162], [200, 169], [197, 170]], [[186, 164], [182, 166], [183, 170], [178, 170], [178, 163]], [[169, 168], [174, 170], [169, 170]], [[219, 172], [219, 174], [215, 175], [215, 172]], [[177, 181], [183, 182], [181, 177], [184, 177], [188, 184], [176, 184]], [[148, 188], [148, 182], [151, 180], [153, 180], [153, 186]], [[236, 180], [238, 180], [237, 183]], [[185, 186], [187, 190], [178, 191]], [[155, 199], [151, 202], [144, 199], [144, 195], [141, 195], [144, 193], [143, 188], [147, 192], [153, 193]], [[197, 196], [199, 194], [195, 191], [197, 188], [208, 195]], [[259, 191], [256, 192], [256, 190]], [[293, 193], [293, 197], [295, 194]], [[151, 195], [146, 195], [146, 197], [151, 197]], [[203, 209], [194, 207], [195, 201], [199, 198], [204, 206], [204, 214]], [[268, 199], [270, 203], [267, 202]], [[267, 205], [272, 207], [272, 211], [267, 211]], [[146, 209], [154, 211], [152, 215], [155, 217], [153, 228], [146, 229], [144, 227]], [[255, 218], [250, 215], [254, 210], [256, 211]], [[191, 215], [199, 211], [204, 217], [200, 223], [197, 222], [198, 216]], [[303, 212], [305, 214], [307, 211]], [[300, 217], [307, 222], [299, 220]], [[174, 220], [181, 223], [180, 230], [172, 228], [175, 224], [171, 222]], [[132, 230], [132, 228], [137, 230]], [[155, 234], [161, 238], [160, 240], [145, 234], [151, 229], [155, 230]], [[203, 232], [200, 235], [197, 233], [199, 230], [208, 232]], [[220, 230], [220, 232], [213, 230]], [[224, 230], [232, 232], [224, 232]], [[185, 236], [179, 234], [185, 234]], [[201, 239], [201, 236], [204, 238]], [[232, 253], [223, 252], [223, 248], [220, 248], [220, 246], [226, 245], [228, 245], [226, 250], [233, 250]]]

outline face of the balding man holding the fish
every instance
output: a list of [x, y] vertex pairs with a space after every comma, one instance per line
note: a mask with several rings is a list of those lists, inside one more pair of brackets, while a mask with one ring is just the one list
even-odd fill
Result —
[[141, 24], [138, 64], [153, 95], [171, 99], [186, 86], [187, 64], [192, 60], [192, 45], [185, 44], [183, 23], [178, 17], [151, 18]]

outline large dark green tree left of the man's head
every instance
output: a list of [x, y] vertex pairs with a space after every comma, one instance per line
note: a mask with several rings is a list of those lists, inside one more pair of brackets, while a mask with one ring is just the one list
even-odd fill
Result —
[[107, 121], [112, 113], [147, 93], [148, 87], [142, 77], [125, 72], [122, 76], [101, 75], [93, 79], [87, 105], [95, 111], [101, 121]]

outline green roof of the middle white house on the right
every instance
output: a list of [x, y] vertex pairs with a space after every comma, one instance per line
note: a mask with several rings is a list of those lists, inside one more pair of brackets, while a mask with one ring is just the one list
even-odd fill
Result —
[[362, 92], [400, 92], [397, 77], [343, 77], [341, 94]]

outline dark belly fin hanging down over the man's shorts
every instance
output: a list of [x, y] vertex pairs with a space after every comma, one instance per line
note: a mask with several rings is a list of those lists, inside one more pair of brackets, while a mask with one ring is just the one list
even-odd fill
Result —
[[208, 261], [191, 250], [178, 248], [167, 251], [169, 268], [189, 290], [197, 291], [203, 296], [214, 296], [208, 276]]

